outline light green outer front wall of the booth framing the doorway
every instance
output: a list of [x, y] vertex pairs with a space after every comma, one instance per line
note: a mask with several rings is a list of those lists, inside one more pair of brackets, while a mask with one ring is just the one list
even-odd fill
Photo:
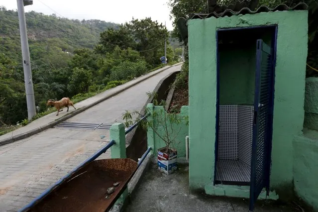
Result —
[[188, 21], [189, 183], [192, 190], [204, 190], [205, 185], [213, 181], [216, 29], [264, 24], [278, 24], [270, 186], [280, 198], [293, 190], [293, 139], [302, 133], [304, 122], [308, 11], [262, 12]]

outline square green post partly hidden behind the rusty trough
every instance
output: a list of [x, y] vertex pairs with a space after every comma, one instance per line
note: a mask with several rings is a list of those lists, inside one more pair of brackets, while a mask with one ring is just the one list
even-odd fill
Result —
[[[126, 136], [125, 126], [123, 123], [114, 123], [109, 130], [110, 140], [114, 140], [116, 143], [111, 146], [110, 155], [111, 158], [126, 158]], [[116, 205], [123, 205], [128, 196], [128, 189], [122, 193], [122, 195], [116, 201]]]

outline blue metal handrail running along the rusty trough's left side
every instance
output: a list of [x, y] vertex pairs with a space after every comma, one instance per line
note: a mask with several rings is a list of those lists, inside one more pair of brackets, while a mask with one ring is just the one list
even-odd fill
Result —
[[27, 204], [24, 208], [19, 210], [19, 212], [24, 212], [26, 210], [29, 210], [32, 206], [37, 204], [40, 200], [42, 200], [44, 197], [46, 197], [50, 192], [52, 192], [54, 189], [56, 189], [58, 186], [60, 186], [63, 182], [67, 181], [72, 177], [72, 175], [77, 172], [79, 169], [84, 167], [86, 164], [94, 161], [96, 158], [98, 158], [101, 154], [105, 153], [107, 149], [109, 149], [112, 145], [114, 145], [116, 142], [114, 140], [111, 140], [105, 147], [100, 149], [98, 152], [96, 152], [94, 155], [92, 155], [90, 158], [88, 158], [86, 161], [78, 165], [73, 171], [65, 175], [63, 178], [61, 178], [58, 182], [56, 182], [53, 186], [45, 190], [42, 194], [40, 194], [38, 197], [36, 197], [32, 202]]

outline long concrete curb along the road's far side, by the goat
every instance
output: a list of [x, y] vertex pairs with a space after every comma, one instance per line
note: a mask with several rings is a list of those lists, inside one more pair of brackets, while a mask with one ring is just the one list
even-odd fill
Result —
[[96, 102], [94, 102], [94, 103], [92, 103], [92, 104], [90, 104], [88, 106], [84, 106], [84, 107], [78, 108], [76, 110], [73, 110], [71, 113], [69, 113], [67, 115], [64, 115], [61, 118], [58, 118], [58, 119], [56, 119], [56, 120], [54, 120], [54, 121], [52, 121], [52, 122], [50, 122], [48, 124], [45, 124], [45, 125], [43, 125], [41, 127], [32, 129], [32, 130], [30, 130], [28, 132], [24, 132], [24, 133], [15, 135], [15, 136], [10, 137], [10, 138], [3, 139], [3, 140], [0, 141], [0, 146], [8, 144], [8, 143], [12, 143], [14, 141], [18, 141], [18, 140], [21, 140], [21, 139], [24, 139], [24, 138], [27, 138], [27, 137], [30, 137], [30, 136], [32, 136], [34, 134], [37, 134], [39, 132], [42, 132], [42, 131], [44, 131], [46, 129], [52, 128], [53, 126], [61, 123], [62, 121], [65, 121], [65, 120], [73, 117], [74, 115], [77, 115], [80, 112], [85, 111], [86, 109], [88, 109], [88, 108], [90, 108], [92, 106], [96, 106], [97, 104], [100, 104], [100, 103], [104, 102], [105, 100], [107, 100], [107, 99], [109, 99], [109, 98], [111, 98], [111, 97], [113, 97], [113, 96], [115, 96], [115, 95], [117, 95], [117, 94], [119, 94], [119, 93], [121, 93], [121, 92], [123, 92], [123, 91], [125, 91], [125, 90], [127, 90], [127, 89], [129, 89], [129, 88], [131, 88], [131, 87], [133, 87], [133, 86], [135, 86], [135, 85], [137, 85], [137, 84], [139, 84], [139, 83], [141, 83], [141, 82], [143, 82], [143, 81], [145, 81], [145, 80], [147, 80], [147, 79], [149, 79], [149, 78], [151, 78], [151, 77], [153, 77], [153, 76], [155, 76], [155, 75], [157, 75], [157, 74], [159, 74], [159, 73], [161, 73], [161, 72], [163, 72], [163, 71], [165, 71], [167, 69], [169, 69], [169, 68], [171, 68], [171, 67], [175, 67], [175, 66], [178, 66], [180, 64], [182, 64], [182, 62], [181, 63], [177, 63], [177, 64], [172, 65], [172, 66], [168, 66], [166, 68], [162, 68], [162, 70], [159, 71], [159, 72], [156, 72], [156, 73], [153, 73], [153, 74], [149, 74], [149, 76], [147, 76], [147, 77], [145, 77], [143, 79], [140, 79], [140, 80], [130, 84], [129, 86], [126, 86], [126, 87], [124, 87], [124, 88], [122, 88], [122, 89], [120, 89], [120, 90], [118, 90], [118, 91], [116, 91], [116, 92], [114, 92], [112, 94], [109, 94], [106, 97], [104, 97], [104, 98], [102, 98], [102, 99], [100, 99], [100, 100], [98, 100], [98, 101], [96, 101]]

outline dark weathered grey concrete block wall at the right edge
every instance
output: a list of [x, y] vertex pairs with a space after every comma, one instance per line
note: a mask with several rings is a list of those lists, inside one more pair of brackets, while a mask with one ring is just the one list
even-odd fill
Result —
[[304, 127], [318, 130], [318, 78], [306, 78]]

